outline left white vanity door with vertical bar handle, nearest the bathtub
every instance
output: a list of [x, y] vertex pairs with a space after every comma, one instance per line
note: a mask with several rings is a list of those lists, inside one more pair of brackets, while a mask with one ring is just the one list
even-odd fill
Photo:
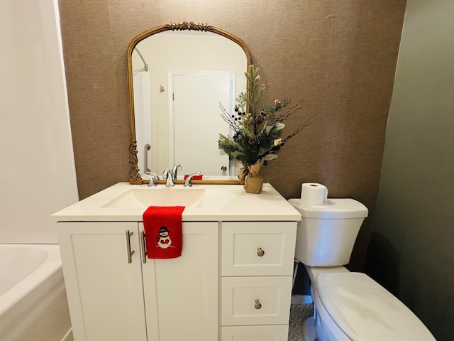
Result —
[[74, 340], [147, 340], [137, 222], [59, 222], [57, 229]]

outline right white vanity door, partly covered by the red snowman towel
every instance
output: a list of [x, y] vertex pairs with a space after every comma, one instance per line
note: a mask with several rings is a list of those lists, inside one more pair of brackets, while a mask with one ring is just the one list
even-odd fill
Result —
[[182, 256], [142, 264], [149, 341], [218, 340], [218, 222], [182, 232]]

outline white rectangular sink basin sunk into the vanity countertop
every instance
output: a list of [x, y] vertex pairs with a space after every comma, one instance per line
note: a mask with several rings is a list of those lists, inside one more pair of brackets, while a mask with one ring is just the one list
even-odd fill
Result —
[[148, 206], [185, 206], [197, 207], [204, 197], [204, 188], [132, 188], [101, 207], [135, 208]]

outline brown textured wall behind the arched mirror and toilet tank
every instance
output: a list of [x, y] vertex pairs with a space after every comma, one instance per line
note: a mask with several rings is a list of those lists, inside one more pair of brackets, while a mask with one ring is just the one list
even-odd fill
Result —
[[[265, 167], [265, 181], [287, 198], [299, 196], [301, 183], [323, 183], [331, 197], [353, 197], [372, 214], [405, 2], [60, 0], [80, 197], [128, 180], [128, 43], [188, 20], [249, 45], [267, 100], [304, 99], [301, 114], [317, 113]], [[367, 220], [351, 269], [362, 268], [369, 232]]]

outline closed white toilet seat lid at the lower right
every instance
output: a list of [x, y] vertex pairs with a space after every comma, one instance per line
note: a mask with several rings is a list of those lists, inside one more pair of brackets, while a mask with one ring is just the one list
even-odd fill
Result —
[[316, 275], [324, 310], [350, 340], [435, 340], [414, 313], [369, 276]]

